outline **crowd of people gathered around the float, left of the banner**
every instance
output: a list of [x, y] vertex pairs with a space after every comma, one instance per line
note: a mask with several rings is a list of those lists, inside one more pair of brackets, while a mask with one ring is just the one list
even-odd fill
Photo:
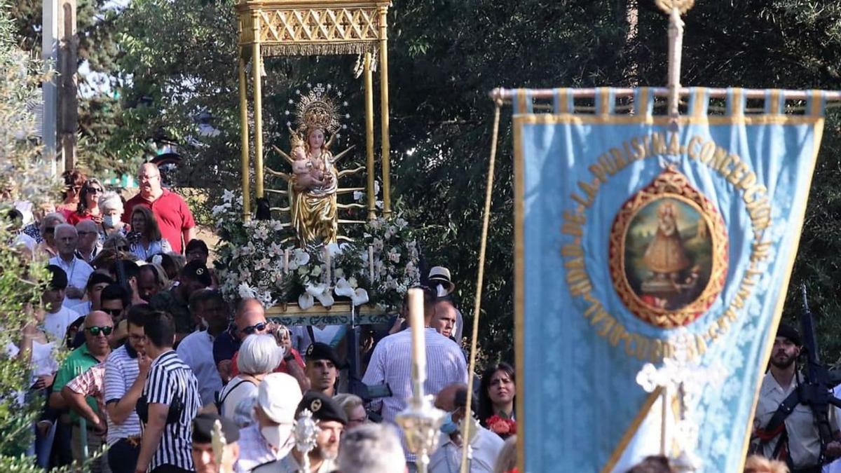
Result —
[[[259, 300], [225, 300], [187, 203], [154, 164], [138, 178], [138, 194], [124, 200], [97, 178], [66, 173], [60, 203], [31, 209], [31, 222], [26, 209], [8, 215], [11, 244], [44, 258], [49, 274], [40, 308], [7, 349], [31, 368], [29, 394], [45, 399], [29, 446], [38, 465], [415, 471], [396, 424], [412, 394], [405, 307], [393, 323], [366, 327], [351, 348], [362, 366], [351, 367], [346, 327], [284, 327]], [[465, 448], [471, 472], [516, 470], [515, 371], [489, 366], [468, 407], [455, 284], [447, 268], [425, 275], [425, 390], [446, 412], [429, 470], [458, 470]], [[294, 438], [304, 411], [318, 427], [309, 451]], [[475, 424], [468, 439], [463, 422]]]

